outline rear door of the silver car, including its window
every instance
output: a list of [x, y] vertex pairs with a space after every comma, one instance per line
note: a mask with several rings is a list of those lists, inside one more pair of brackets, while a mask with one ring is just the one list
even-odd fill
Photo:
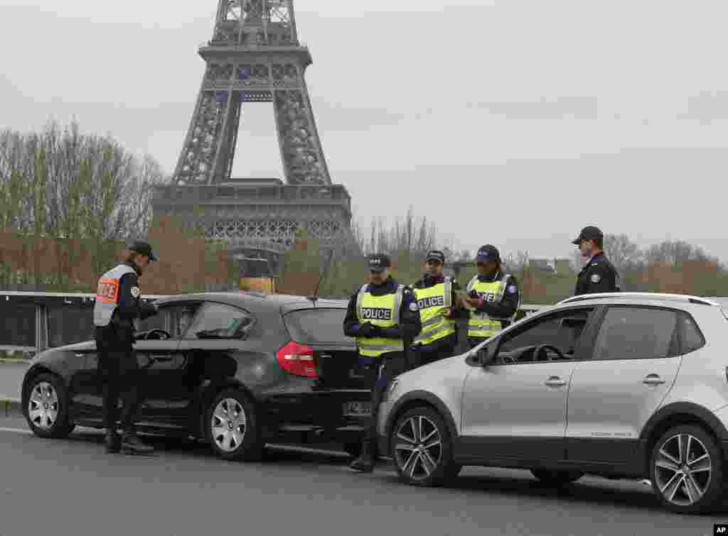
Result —
[[569, 390], [569, 460], [628, 463], [649, 417], [660, 407], [681, 363], [678, 311], [612, 305], [591, 359], [577, 364]]

